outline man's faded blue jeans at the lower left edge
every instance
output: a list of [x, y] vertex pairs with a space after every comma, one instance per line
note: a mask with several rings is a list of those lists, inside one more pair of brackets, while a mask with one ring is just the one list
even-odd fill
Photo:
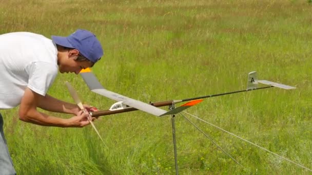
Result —
[[3, 132], [3, 118], [0, 113], [0, 174], [16, 174], [13, 162], [9, 154], [6, 138]]

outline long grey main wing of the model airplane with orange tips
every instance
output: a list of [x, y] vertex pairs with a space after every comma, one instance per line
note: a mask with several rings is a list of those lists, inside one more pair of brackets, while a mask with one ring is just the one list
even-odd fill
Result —
[[90, 69], [84, 69], [80, 72], [80, 74], [92, 92], [94, 92], [96, 94], [100, 94], [100, 95], [105, 96], [107, 98], [110, 98], [112, 100], [121, 102], [125, 106], [131, 106], [131, 107], [134, 107], [138, 110], [144, 111], [146, 113], [149, 113], [149, 114], [152, 114], [152, 115], [155, 115], [158, 117], [177, 114], [177, 113], [181, 112], [179, 110], [183, 111], [185, 108], [189, 107], [188, 105], [186, 105], [186, 106], [182, 105], [182, 106], [176, 108], [176, 109], [179, 108], [179, 110], [174, 110], [174, 111], [172, 110], [172, 111], [169, 111], [170, 112], [169, 113], [165, 110], [162, 110], [161, 108], [152, 106], [152, 105], [144, 103], [142, 101], [135, 100], [135, 99], [132, 99], [132, 98], [129, 98], [129, 97], [126, 97], [126, 96], [123, 96], [123, 95], [120, 95], [120, 94], [106, 90], [102, 86], [102, 84], [99, 82], [99, 80], [97, 80], [97, 78], [94, 76], [94, 74], [91, 72]]

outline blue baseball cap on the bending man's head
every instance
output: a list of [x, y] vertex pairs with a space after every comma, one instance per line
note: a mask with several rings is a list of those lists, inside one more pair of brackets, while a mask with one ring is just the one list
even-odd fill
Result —
[[78, 29], [67, 37], [52, 36], [52, 41], [56, 45], [79, 50], [80, 54], [93, 63], [104, 55], [100, 41], [87, 30]]

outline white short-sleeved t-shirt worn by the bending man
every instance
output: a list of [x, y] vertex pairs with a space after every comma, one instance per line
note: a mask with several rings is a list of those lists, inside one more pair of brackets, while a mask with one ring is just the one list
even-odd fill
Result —
[[57, 49], [43, 35], [0, 35], [0, 109], [21, 103], [26, 87], [45, 96], [57, 75]]

